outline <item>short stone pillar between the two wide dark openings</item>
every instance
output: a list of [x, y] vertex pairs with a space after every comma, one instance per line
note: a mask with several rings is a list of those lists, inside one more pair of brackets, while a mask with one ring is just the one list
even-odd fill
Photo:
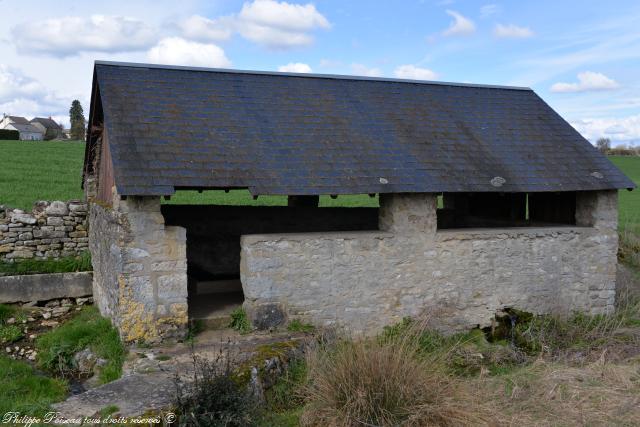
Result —
[[395, 234], [435, 234], [438, 199], [435, 193], [381, 194], [378, 226]]

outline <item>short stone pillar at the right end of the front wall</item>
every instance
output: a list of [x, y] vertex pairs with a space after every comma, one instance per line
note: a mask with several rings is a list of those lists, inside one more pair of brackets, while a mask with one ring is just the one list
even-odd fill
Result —
[[598, 229], [618, 229], [618, 191], [576, 193], [576, 225]]

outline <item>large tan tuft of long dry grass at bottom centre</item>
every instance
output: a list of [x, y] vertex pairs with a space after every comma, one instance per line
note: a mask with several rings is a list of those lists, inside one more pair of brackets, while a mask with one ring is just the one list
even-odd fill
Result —
[[485, 408], [415, 334], [340, 341], [308, 356], [302, 416], [310, 426], [487, 424]]

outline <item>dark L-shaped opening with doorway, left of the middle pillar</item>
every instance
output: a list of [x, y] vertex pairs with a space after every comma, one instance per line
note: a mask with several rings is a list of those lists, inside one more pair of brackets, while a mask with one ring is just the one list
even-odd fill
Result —
[[162, 205], [165, 224], [187, 230], [189, 317], [210, 326], [242, 304], [240, 237], [245, 234], [377, 230], [378, 208]]

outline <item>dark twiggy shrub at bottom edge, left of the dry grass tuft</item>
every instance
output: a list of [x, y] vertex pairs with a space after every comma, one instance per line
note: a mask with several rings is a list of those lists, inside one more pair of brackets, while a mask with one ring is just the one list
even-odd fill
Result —
[[237, 381], [232, 357], [222, 351], [214, 360], [193, 355], [193, 377], [175, 378], [175, 412], [180, 426], [247, 426], [257, 419], [257, 402]]

